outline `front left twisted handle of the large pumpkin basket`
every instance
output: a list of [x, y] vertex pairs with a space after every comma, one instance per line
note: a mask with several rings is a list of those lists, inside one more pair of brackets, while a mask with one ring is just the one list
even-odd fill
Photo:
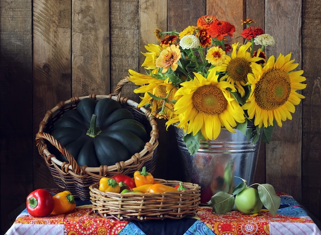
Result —
[[[56, 140], [52, 135], [50, 135], [48, 133], [44, 133], [44, 132], [38, 132], [36, 134], [37, 147], [39, 144], [45, 145], [44, 139], [49, 141], [53, 146], [55, 146], [58, 149], [59, 152], [61, 152], [67, 158], [68, 163], [71, 165], [71, 169], [72, 169], [73, 173], [78, 174], [78, 175], [85, 174], [83, 168], [78, 165], [78, 163], [76, 162], [76, 160], [72, 156], [72, 154], [69, 153], [69, 151], [58, 140]], [[39, 152], [39, 154], [41, 154], [43, 156], [42, 153]], [[47, 159], [45, 159], [45, 160], [48, 161]], [[63, 164], [63, 165], [65, 165], [65, 164]], [[69, 169], [69, 167], [68, 166], [66, 167], [66, 165], [62, 168], [62, 170], [65, 173], [68, 173], [68, 169]]]

